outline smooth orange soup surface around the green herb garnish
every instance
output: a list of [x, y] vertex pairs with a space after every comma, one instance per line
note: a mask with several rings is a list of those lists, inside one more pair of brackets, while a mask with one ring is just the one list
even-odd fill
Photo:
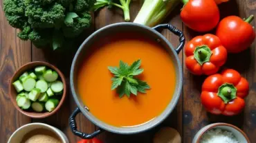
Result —
[[[135, 36], [136, 35], [136, 36]], [[78, 94], [96, 118], [113, 126], [136, 126], [160, 115], [174, 94], [174, 63], [168, 52], [155, 41], [138, 34], [118, 34], [99, 39], [86, 53], [78, 72]], [[111, 91], [108, 66], [119, 61], [131, 65], [141, 59], [144, 72], [138, 76], [151, 89], [147, 94], [119, 98]]]

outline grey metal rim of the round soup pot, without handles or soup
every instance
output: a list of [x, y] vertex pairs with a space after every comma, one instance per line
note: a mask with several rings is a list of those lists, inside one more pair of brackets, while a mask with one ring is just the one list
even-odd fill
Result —
[[[180, 73], [179, 74], [179, 82], [176, 83], [176, 90], [174, 91], [174, 96], [172, 98], [172, 100], [170, 102], [173, 102], [172, 106], [168, 109], [167, 107], [165, 108], [165, 110], [160, 114], [158, 115], [156, 118], [160, 117], [157, 122], [154, 122], [154, 124], [149, 124], [146, 128], [138, 128], [139, 126], [143, 126], [144, 124], [148, 124], [149, 122], [152, 122], [152, 120], [149, 120], [148, 122], [145, 122], [143, 124], [138, 124], [138, 126], [131, 126], [131, 127], [117, 127], [117, 126], [112, 126], [111, 124], [107, 124], [105, 122], [102, 122], [100, 121], [98, 118], [95, 118], [98, 119], [98, 121], [95, 121], [93, 120], [93, 118], [91, 117], [91, 115], [88, 115], [89, 113], [86, 112], [86, 109], [84, 109], [84, 107], [80, 104], [80, 100], [78, 100], [77, 98], [77, 94], [75, 92], [75, 87], [74, 87], [74, 69], [75, 69], [75, 63], [77, 62], [77, 58], [78, 56], [80, 55], [80, 52], [82, 51], [84, 45], [86, 45], [86, 43], [88, 41], [91, 41], [91, 39], [98, 34], [98, 32], [100, 31], [104, 31], [104, 30], [107, 30], [108, 28], [113, 28], [113, 27], [116, 27], [116, 26], [123, 26], [123, 25], [127, 25], [127, 26], [137, 26], [137, 27], [140, 27], [140, 28], [143, 28], [144, 30], [149, 30], [150, 32], [156, 34], [159, 39], [161, 39], [162, 41], [164, 41], [168, 47], [170, 47], [170, 50], [172, 50], [172, 53], [174, 55], [174, 60], [176, 60], [176, 70]], [[177, 76], [176, 76], [177, 77]], [[80, 45], [79, 49], [77, 50], [74, 58], [73, 58], [73, 62], [72, 62], [72, 65], [71, 65], [71, 74], [70, 74], [70, 83], [71, 83], [71, 94], [75, 100], [75, 103], [77, 104], [77, 107], [80, 109], [80, 111], [82, 111], [83, 115], [86, 116], [87, 119], [89, 119], [91, 122], [93, 122], [93, 124], [95, 124], [96, 126], [100, 127], [100, 129], [104, 129], [106, 131], [110, 131], [111, 133], [119, 133], [119, 134], [134, 134], [134, 133], [141, 133], [141, 132], [144, 132], [144, 131], [148, 131], [149, 129], [152, 129], [154, 128], [155, 126], [157, 126], [158, 124], [161, 124], [161, 122], [163, 122], [163, 120], [165, 120], [165, 118], [167, 118], [170, 113], [172, 113], [173, 109], [176, 107], [176, 104], [179, 100], [179, 97], [181, 96], [181, 90], [182, 90], [182, 85], [183, 85], [183, 70], [182, 70], [182, 66], [181, 66], [181, 63], [179, 61], [179, 56], [178, 54], [176, 53], [175, 49], [172, 48], [172, 45], [171, 43], [165, 38], [165, 36], [163, 36], [161, 33], [157, 32], [156, 30], [152, 29], [152, 28], [149, 28], [145, 25], [140, 25], [138, 23], [113, 23], [111, 25], [107, 25], [103, 28], [100, 28], [99, 30], [93, 32], [93, 34], [91, 34], [83, 43], [82, 45]], [[176, 96], [175, 96], [176, 95]], [[170, 104], [170, 103], [169, 103]], [[170, 106], [170, 105], [167, 105], [167, 106]], [[107, 125], [104, 125], [104, 124], [107, 124]], [[107, 126], [111, 126], [111, 128], [108, 128]], [[125, 130], [123, 131], [122, 129], [127, 129], [129, 128], [130, 130]], [[137, 129], [134, 129], [134, 128], [137, 128]]]

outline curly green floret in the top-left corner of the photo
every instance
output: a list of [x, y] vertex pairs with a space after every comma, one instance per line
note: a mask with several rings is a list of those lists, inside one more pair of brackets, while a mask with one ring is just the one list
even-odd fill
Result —
[[13, 28], [22, 28], [28, 19], [25, 17], [23, 0], [3, 1], [3, 10], [6, 12], [6, 19]]

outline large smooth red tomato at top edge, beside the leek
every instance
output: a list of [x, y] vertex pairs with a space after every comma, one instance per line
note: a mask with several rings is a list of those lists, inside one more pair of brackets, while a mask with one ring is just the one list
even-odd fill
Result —
[[219, 22], [219, 8], [214, 0], [183, 0], [181, 19], [196, 32], [208, 32]]

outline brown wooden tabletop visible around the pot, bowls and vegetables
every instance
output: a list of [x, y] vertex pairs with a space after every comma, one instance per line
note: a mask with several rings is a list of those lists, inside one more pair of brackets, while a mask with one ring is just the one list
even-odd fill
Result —
[[[11, 28], [6, 21], [3, 14], [3, 0], [1, 0], [0, 12], [0, 142], [7, 142], [10, 135], [19, 126], [28, 124], [30, 122], [44, 122], [51, 124], [61, 129], [66, 133], [71, 143], [79, 140], [71, 133], [68, 126], [68, 117], [75, 109], [76, 105], [68, 91], [68, 97], [62, 105], [60, 111], [51, 117], [44, 119], [31, 119], [22, 115], [15, 109], [8, 98], [8, 84], [12, 74], [25, 63], [30, 61], [47, 61], [59, 67], [66, 75], [66, 80], [69, 81], [69, 71], [71, 68], [71, 61], [77, 50], [77, 46], [71, 47], [72, 49], [66, 53], [56, 54], [51, 50], [39, 50], [30, 41], [21, 41], [16, 36], [17, 30]], [[133, 1], [131, 3], [131, 21], [136, 17], [140, 6], [143, 1]], [[230, 0], [228, 3], [219, 5], [221, 10], [221, 17], [228, 15], [239, 15], [240, 17], [248, 17], [249, 14], [256, 16], [256, 0]], [[187, 41], [192, 37], [199, 35], [194, 33], [183, 25], [179, 17], [179, 11], [182, 5], [167, 17], [165, 23], [172, 23], [176, 28], [182, 30], [185, 34]], [[109, 25], [111, 23], [122, 22], [122, 12], [120, 10], [108, 10], [104, 8], [100, 12], [95, 12], [94, 21], [91, 30], [87, 30], [84, 38], [93, 32]], [[255, 25], [256, 20], [252, 22]], [[168, 31], [163, 31], [162, 34], [174, 45], [178, 45], [178, 39], [174, 34]], [[193, 76], [190, 74], [183, 64], [184, 84], [183, 94], [179, 99], [179, 104], [172, 114], [167, 118], [161, 126], [172, 126], [181, 133], [183, 142], [190, 143], [195, 133], [203, 126], [212, 122], [228, 122], [235, 124], [243, 129], [252, 143], [256, 142], [256, 50], [255, 43], [251, 45], [250, 50], [246, 50], [240, 54], [230, 54], [228, 63], [225, 67], [237, 69], [243, 76], [245, 76], [250, 83], [250, 95], [246, 98], [246, 108], [240, 115], [233, 117], [224, 117], [211, 115], [203, 109], [200, 102], [201, 84], [205, 76]], [[179, 55], [181, 61], [185, 58], [184, 54]], [[183, 63], [183, 62], [182, 62]], [[77, 116], [78, 129], [87, 133], [95, 131], [98, 127], [87, 120], [84, 115]], [[99, 138], [105, 142], [110, 143], [125, 143], [125, 142], [152, 142], [154, 133], [161, 127], [141, 133], [138, 135], [116, 135], [113, 133], [104, 132], [99, 135]]]

